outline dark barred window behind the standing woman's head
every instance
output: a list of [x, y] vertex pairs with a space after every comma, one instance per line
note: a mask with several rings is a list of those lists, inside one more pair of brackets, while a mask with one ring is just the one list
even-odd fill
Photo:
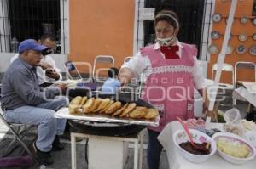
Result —
[[[181, 42], [197, 45], [200, 50], [204, 0], [145, 0], [145, 8], [155, 8], [155, 13], [162, 9], [175, 11], [181, 22], [177, 38]], [[144, 20], [144, 32], [144, 45], [154, 43], [153, 20]]]

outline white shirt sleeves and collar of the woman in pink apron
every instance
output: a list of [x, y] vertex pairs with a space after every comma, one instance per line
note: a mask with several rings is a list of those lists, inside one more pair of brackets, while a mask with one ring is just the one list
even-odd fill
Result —
[[[177, 55], [179, 57], [181, 57], [181, 53], [182, 50], [181, 48], [183, 48], [182, 43], [178, 42], [175, 44], [179, 47], [178, 51], [177, 51]], [[154, 49], [159, 49], [160, 48], [160, 44], [157, 42], [154, 45]], [[165, 58], [165, 55], [162, 54], [162, 57]], [[194, 82], [195, 88], [196, 89], [201, 89], [203, 87], [205, 87], [204, 85], [204, 76], [201, 70], [201, 66], [199, 65], [196, 57], [193, 57], [195, 64], [191, 73], [192, 76], [192, 81]], [[131, 69], [131, 71], [133, 72], [133, 74], [135, 76], [139, 76], [141, 75], [141, 73], [144, 72], [145, 76], [148, 78], [149, 75], [151, 75], [152, 73], [152, 65], [150, 62], [150, 59], [148, 58], [148, 56], [142, 56], [142, 54], [140, 52], [138, 52], [132, 59], [130, 59], [128, 62], [126, 62], [124, 65], [121, 66], [121, 68], [129, 68]]]

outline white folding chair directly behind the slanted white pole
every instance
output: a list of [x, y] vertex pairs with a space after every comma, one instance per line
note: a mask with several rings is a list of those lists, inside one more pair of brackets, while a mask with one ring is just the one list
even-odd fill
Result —
[[[218, 64], [217, 64], [217, 63], [214, 64], [214, 65], [212, 65], [212, 80], [214, 80], [214, 79], [213, 79], [213, 77], [214, 77], [213, 75], [214, 75], [214, 72], [217, 71], [217, 67], [218, 67]], [[232, 100], [232, 104], [233, 104], [232, 93], [233, 93], [233, 91], [234, 91], [234, 89], [235, 89], [235, 80], [234, 80], [234, 68], [233, 68], [233, 65], [224, 63], [221, 70], [222, 70], [223, 72], [228, 72], [228, 73], [231, 74], [232, 82], [231, 82], [231, 83], [224, 83], [224, 82], [221, 82], [221, 81], [220, 81], [220, 83], [218, 83], [218, 89], [219, 89], [220, 91], [223, 90], [225, 93], [227, 93], [227, 92], [229, 92], [229, 93], [223, 95], [222, 93], [219, 93], [219, 90], [218, 90], [217, 95], [218, 95], [218, 96], [224, 96], [224, 97], [225, 97], [224, 100], [230, 98], [230, 99]], [[221, 80], [223, 80], [223, 79], [221, 79]], [[224, 100], [222, 100], [222, 102], [223, 102]], [[225, 103], [225, 101], [224, 101], [223, 103]], [[222, 104], [222, 105], [227, 105], [227, 104]]]

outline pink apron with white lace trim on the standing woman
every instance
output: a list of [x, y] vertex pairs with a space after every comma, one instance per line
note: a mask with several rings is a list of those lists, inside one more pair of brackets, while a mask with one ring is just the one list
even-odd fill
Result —
[[180, 59], [164, 59], [154, 45], [141, 49], [148, 56], [152, 73], [145, 82], [142, 99], [160, 110], [160, 126], [149, 127], [160, 132], [170, 121], [194, 116], [194, 83], [191, 72], [194, 67], [195, 46], [182, 43]]

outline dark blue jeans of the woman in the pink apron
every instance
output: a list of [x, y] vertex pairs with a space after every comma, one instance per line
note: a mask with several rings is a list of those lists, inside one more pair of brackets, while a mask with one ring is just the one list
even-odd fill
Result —
[[148, 149], [147, 149], [147, 161], [148, 169], [158, 169], [160, 163], [160, 155], [163, 146], [158, 141], [157, 137], [160, 132], [155, 132], [148, 129]]

